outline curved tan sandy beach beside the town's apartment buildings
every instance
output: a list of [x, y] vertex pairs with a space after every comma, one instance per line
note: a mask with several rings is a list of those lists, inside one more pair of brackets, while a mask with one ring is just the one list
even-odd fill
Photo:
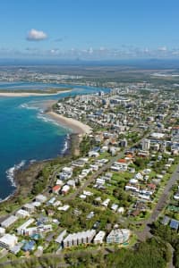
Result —
[[82, 135], [90, 134], [92, 131], [90, 126], [83, 124], [81, 121], [64, 117], [63, 115], [55, 112], [48, 112], [47, 114], [50, 117], [52, 117], [55, 121], [73, 130], [73, 132], [76, 134], [82, 134]]

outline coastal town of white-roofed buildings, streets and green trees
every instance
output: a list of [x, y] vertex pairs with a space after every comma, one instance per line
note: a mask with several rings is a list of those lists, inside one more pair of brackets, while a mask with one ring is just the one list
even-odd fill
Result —
[[57, 166], [50, 188], [1, 222], [2, 255], [128, 246], [146, 235], [141, 226], [157, 220], [166, 205], [160, 197], [174, 184], [161, 223], [178, 230], [176, 214], [167, 214], [178, 212], [177, 93], [142, 87], [132, 84], [57, 103], [56, 113], [90, 125], [93, 132], [81, 138], [81, 155]]

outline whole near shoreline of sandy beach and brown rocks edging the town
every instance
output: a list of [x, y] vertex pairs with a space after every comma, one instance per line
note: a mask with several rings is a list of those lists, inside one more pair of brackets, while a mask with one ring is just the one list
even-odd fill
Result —
[[[51, 117], [54, 121], [56, 121], [59, 125], [64, 126], [65, 128], [68, 128], [72, 130], [72, 133], [67, 134], [69, 137], [66, 139], [66, 145], [64, 148], [64, 152], [62, 153], [62, 157], [72, 157], [72, 155], [80, 155], [80, 143], [81, 143], [81, 138], [84, 135], [89, 135], [92, 132], [92, 129], [90, 126], [82, 123], [81, 121], [74, 120], [72, 118], [67, 118], [64, 117], [61, 114], [55, 113], [53, 105], [56, 104], [55, 100], [47, 100], [44, 102], [45, 105], [45, 111], [44, 113], [47, 114], [47, 116]], [[56, 157], [58, 157], [56, 155]], [[56, 158], [55, 157], [55, 158]], [[54, 158], [54, 159], [55, 159]], [[15, 198], [18, 197], [19, 195], [23, 196], [23, 190], [24, 188], [26, 189], [26, 185], [24, 186], [24, 180], [21, 181], [21, 177], [24, 178], [24, 174], [28, 176], [31, 170], [33, 170], [34, 166], [35, 167], [40, 167], [40, 170], [42, 166], [47, 163], [51, 162], [53, 159], [45, 159], [41, 161], [37, 161], [35, 163], [30, 163], [26, 168], [23, 169], [18, 169], [17, 171], [14, 172], [14, 178], [13, 178], [13, 183], [14, 183], [14, 191], [12, 194], [10, 194], [8, 197], [4, 198], [4, 200], [1, 200], [0, 204], [5, 204], [5, 202], [13, 202], [16, 200]], [[35, 170], [38, 170], [38, 168], [35, 168]], [[36, 176], [32, 175], [30, 176], [30, 181], [36, 180]], [[27, 190], [27, 189], [26, 189]]]

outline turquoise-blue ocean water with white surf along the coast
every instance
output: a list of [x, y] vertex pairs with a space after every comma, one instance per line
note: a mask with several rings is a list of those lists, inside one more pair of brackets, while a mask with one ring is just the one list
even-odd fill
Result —
[[[21, 88], [21, 83], [12, 85], [14, 88], [19, 86]], [[23, 83], [23, 88], [27, 89], [26, 86], [37, 88], [36, 84]], [[48, 86], [51, 85], [45, 87]], [[64, 88], [64, 85], [61, 87]], [[39, 88], [43, 88], [43, 85], [39, 85]], [[94, 93], [99, 89], [76, 87], [72, 92], [58, 96], [0, 97], [0, 198], [4, 199], [13, 193], [15, 169], [33, 161], [61, 155], [65, 149], [66, 138], [71, 130], [47, 118], [43, 113], [44, 102], [69, 95]]]

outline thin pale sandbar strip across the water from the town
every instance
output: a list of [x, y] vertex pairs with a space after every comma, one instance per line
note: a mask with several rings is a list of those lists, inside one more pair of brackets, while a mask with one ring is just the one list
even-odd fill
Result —
[[35, 92], [0, 92], [0, 96], [54, 96], [61, 93], [68, 93], [72, 90], [63, 90], [56, 93], [35, 93]]

